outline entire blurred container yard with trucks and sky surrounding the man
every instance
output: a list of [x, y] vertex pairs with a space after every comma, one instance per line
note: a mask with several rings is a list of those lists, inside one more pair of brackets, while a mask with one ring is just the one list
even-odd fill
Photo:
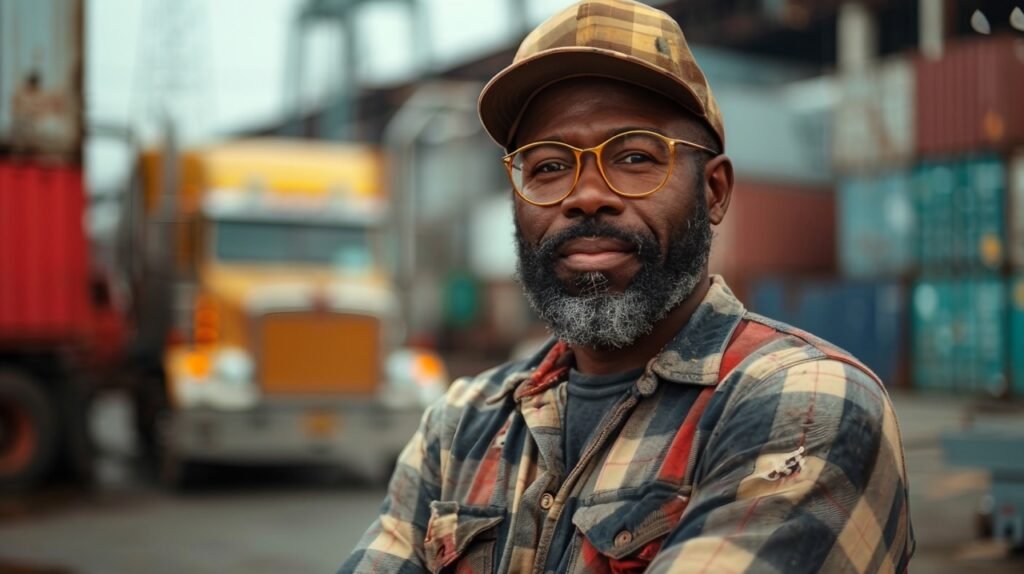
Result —
[[[664, 0], [712, 270], [903, 427], [921, 572], [1024, 560], [1024, 2]], [[333, 571], [545, 337], [475, 101], [563, 0], [0, 0], [0, 572]]]

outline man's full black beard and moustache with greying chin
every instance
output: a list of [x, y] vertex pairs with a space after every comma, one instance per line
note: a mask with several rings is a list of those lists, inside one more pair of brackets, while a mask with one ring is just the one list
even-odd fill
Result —
[[[518, 278], [526, 299], [552, 335], [570, 345], [621, 349], [651, 333], [654, 325], [679, 306], [703, 276], [711, 252], [711, 222], [703, 202], [685, 228], [670, 237], [663, 253], [652, 235], [628, 232], [608, 224], [585, 220], [537, 248], [526, 245], [516, 229]], [[611, 236], [637, 246], [641, 270], [623, 293], [612, 293], [601, 272], [578, 275], [578, 294], [568, 293], [555, 275], [558, 248], [568, 239]]]

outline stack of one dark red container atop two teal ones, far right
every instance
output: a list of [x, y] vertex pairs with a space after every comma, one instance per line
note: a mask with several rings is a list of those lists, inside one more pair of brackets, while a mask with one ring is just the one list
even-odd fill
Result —
[[919, 388], [1024, 395], [1021, 305], [1006, 273], [1020, 268], [1024, 226], [1012, 154], [1024, 143], [1021, 47], [1015, 38], [971, 39], [916, 63]]

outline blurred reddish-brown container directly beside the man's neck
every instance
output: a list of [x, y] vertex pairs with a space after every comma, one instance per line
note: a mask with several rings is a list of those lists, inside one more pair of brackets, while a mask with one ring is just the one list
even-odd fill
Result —
[[765, 276], [836, 271], [836, 194], [829, 187], [737, 181], [713, 227], [710, 269], [743, 299]]

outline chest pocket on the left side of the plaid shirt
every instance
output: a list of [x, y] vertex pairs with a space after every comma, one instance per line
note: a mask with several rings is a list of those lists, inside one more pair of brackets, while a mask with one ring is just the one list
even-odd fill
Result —
[[434, 574], [493, 572], [498, 527], [504, 519], [504, 509], [430, 502], [430, 522], [423, 540], [427, 568]]

